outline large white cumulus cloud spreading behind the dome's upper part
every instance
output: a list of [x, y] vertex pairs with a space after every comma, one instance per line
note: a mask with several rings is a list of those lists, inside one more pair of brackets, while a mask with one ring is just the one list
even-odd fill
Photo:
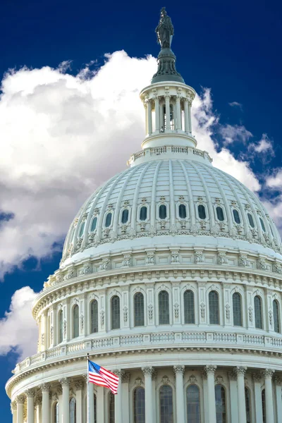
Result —
[[[0, 278], [23, 259], [51, 254], [73, 216], [101, 183], [125, 168], [140, 149], [144, 109], [138, 93], [157, 68], [152, 56], [107, 54], [94, 72], [85, 66], [67, 73], [71, 62], [54, 69], [22, 68], [4, 76], [0, 97]], [[212, 140], [218, 117], [209, 90], [197, 96], [192, 123], [199, 148], [214, 165], [252, 190], [259, 182], [246, 161]], [[252, 134], [242, 126], [222, 129], [226, 145]]]

